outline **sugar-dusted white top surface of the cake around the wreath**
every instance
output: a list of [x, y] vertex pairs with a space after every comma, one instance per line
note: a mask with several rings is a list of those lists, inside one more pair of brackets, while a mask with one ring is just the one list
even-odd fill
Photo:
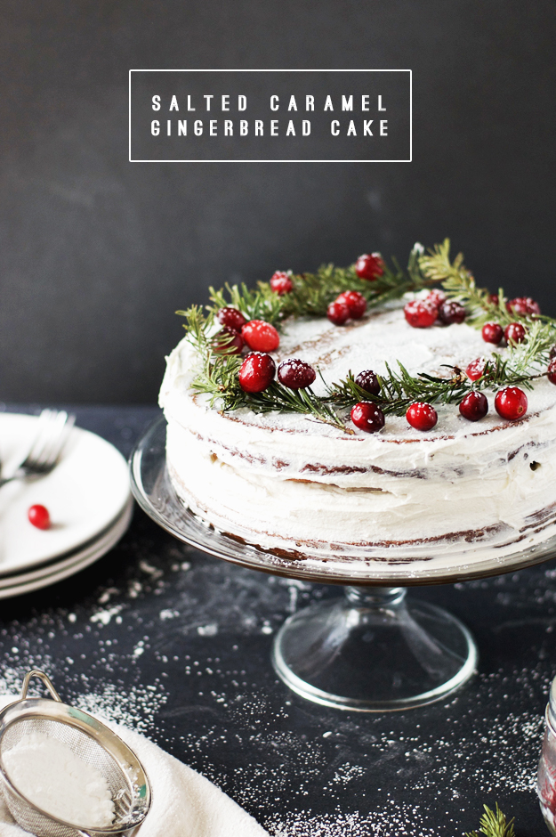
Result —
[[[280, 345], [272, 353], [277, 364], [286, 358], [297, 357], [319, 371], [324, 379], [317, 378], [313, 385], [316, 394], [325, 394], [326, 384], [345, 378], [351, 371], [354, 375], [362, 370], [373, 370], [386, 374], [386, 364], [396, 367], [400, 362], [413, 375], [424, 372], [447, 378], [455, 366], [465, 369], [478, 357], [492, 357], [493, 350], [504, 356], [506, 350], [485, 343], [478, 329], [466, 323], [448, 326], [434, 325], [429, 329], [414, 329], [408, 325], [403, 314], [407, 299], [386, 305], [383, 310], [371, 311], [359, 321], [337, 327], [326, 318], [290, 319], [283, 325]], [[194, 394], [191, 382], [195, 378], [198, 360], [195, 351], [185, 337], [168, 359], [168, 370], [162, 389], [162, 404], [180, 420], [184, 415], [186, 402], [198, 410], [212, 413], [228, 423], [259, 427], [270, 431], [319, 435], [348, 440], [369, 439], [364, 431], [354, 428], [354, 435], [346, 435], [310, 417], [288, 412], [255, 413], [242, 408], [221, 414], [218, 404], [210, 407], [204, 394]], [[454, 404], [435, 405], [439, 413], [438, 425], [423, 434], [410, 427], [404, 417], [388, 416], [385, 426], [373, 434], [375, 441], [382, 442], [431, 442], [460, 437], [463, 435], [485, 435], [504, 430], [513, 435], [533, 419], [543, 420], [547, 411], [556, 405], [556, 386], [545, 378], [528, 392], [529, 408], [524, 418], [507, 422], [494, 410], [494, 394], [488, 394], [489, 412], [479, 422], [462, 418]], [[552, 418], [551, 418], [552, 420]]]

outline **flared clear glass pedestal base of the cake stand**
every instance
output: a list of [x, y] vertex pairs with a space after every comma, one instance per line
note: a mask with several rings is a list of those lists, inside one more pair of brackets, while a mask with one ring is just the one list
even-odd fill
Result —
[[346, 587], [279, 630], [272, 662], [298, 695], [338, 709], [400, 711], [447, 697], [471, 677], [477, 648], [445, 610], [402, 587]]

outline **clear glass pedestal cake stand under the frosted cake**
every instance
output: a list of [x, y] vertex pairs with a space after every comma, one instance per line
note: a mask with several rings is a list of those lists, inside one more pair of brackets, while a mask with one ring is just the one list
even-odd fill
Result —
[[298, 695], [355, 711], [394, 711], [447, 697], [471, 677], [477, 648], [455, 616], [406, 597], [407, 587], [508, 573], [556, 554], [556, 538], [504, 558], [496, 550], [472, 563], [457, 560], [415, 572], [376, 559], [328, 566], [309, 555], [277, 555], [218, 532], [185, 508], [165, 464], [164, 418], [142, 435], [130, 459], [133, 495], [166, 532], [211, 555], [252, 570], [320, 584], [345, 596], [306, 607], [278, 631], [272, 663]]

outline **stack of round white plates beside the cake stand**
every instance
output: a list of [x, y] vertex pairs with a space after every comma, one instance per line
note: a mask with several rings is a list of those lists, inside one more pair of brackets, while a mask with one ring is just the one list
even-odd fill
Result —
[[[0, 414], [2, 475], [25, 459], [37, 418]], [[40, 504], [47, 530], [28, 521]], [[100, 436], [74, 427], [50, 474], [0, 488], [0, 598], [53, 584], [93, 564], [127, 529], [133, 510], [127, 463]]]

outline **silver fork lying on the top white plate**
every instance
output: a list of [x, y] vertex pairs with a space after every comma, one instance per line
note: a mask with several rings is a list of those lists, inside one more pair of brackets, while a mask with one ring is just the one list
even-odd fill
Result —
[[66, 410], [43, 410], [38, 418], [35, 439], [26, 458], [12, 476], [0, 479], [0, 488], [12, 480], [50, 474], [60, 461], [61, 451], [68, 441], [69, 431], [75, 420], [76, 417], [68, 415]]

